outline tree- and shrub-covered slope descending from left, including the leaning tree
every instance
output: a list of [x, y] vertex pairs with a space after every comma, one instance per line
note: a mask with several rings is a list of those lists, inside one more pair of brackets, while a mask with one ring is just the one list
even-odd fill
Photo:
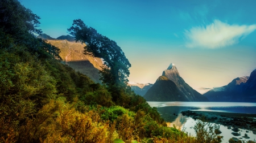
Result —
[[85, 54], [105, 60], [103, 84], [61, 64], [60, 50], [35, 36], [39, 19], [17, 0], [0, 0], [0, 142], [220, 142], [199, 132], [203, 122], [197, 137], [166, 127], [126, 85], [131, 65], [121, 48], [80, 19], [68, 31]]

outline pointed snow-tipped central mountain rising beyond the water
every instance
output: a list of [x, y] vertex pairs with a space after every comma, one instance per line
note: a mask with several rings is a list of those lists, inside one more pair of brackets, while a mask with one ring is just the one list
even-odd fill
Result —
[[[205, 96], [185, 83], [173, 63], [170, 64], [167, 70], [163, 71], [159, 78], [156, 80], [156, 86], [154, 84], [145, 94], [144, 98], [147, 101], [208, 101]], [[171, 84], [167, 79], [174, 84]]]

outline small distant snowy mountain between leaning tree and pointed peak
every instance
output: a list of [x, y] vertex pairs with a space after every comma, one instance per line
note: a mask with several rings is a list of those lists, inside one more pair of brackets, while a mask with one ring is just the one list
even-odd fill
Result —
[[139, 83], [134, 83], [134, 82], [129, 82], [127, 85], [131, 86], [131, 90], [134, 91], [134, 93], [144, 96], [147, 92], [148, 89], [150, 89], [153, 84], [139, 84]]

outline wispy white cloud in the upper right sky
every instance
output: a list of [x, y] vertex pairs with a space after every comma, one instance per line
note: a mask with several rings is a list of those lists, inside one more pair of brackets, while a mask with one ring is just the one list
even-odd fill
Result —
[[253, 25], [229, 25], [220, 20], [214, 20], [206, 27], [193, 27], [189, 31], [185, 30], [187, 47], [204, 47], [216, 49], [219, 47], [237, 44], [240, 39], [247, 36], [256, 29]]

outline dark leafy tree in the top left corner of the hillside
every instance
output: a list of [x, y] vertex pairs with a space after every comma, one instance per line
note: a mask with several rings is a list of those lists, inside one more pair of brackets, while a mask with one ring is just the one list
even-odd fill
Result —
[[9, 34], [14, 44], [23, 45], [27, 51], [39, 58], [61, 60], [60, 50], [46, 41], [35, 38], [41, 34], [38, 29], [40, 17], [30, 9], [22, 6], [18, 0], [0, 0], [0, 32]]

